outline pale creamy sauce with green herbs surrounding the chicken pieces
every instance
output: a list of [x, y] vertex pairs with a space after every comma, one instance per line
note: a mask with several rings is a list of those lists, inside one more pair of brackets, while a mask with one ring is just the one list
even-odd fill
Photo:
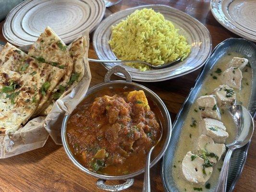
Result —
[[[222, 72], [224, 72], [228, 68], [227, 65], [232, 60], [233, 57], [243, 56], [235, 52], [228, 53], [227, 55], [223, 56], [216, 63], [214, 68], [209, 72], [209, 75], [205, 79], [198, 97], [210, 95], [216, 87], [222, 84], [219, 80], [220, 74], [216, 73], [215, 71], [217, 70], [217, 68], [219, 68], [221, 69]], [[251, 96], [252, 69], [249, 66], [246, 66], [241, 71], [243, 74], [241, 89], [234, 89], [236, 94], [236, 104], [242, 104], [245, 107], [247, 107], [249, 98]], [[216, 76], [217, 79], [214, 79], [214, 76]], [[226, 143], [230, 143], [236, 136], [235, 125], [232, 121], [232, 118], [229, 115], [229, 112], [227, 111], [227, 108], [219, 108], [219, 111], [221, 114], [221, 121], [224, 123], [224, 125], [227, 128], [227, 132], [229, 133], [229, 137], [226, 139]], [[192, 124], [192, 118], [194, 118], [197, 122], [196, 127], [190, 126], [190, 124]], [[186, 120], [183, 123], [182, 132], [175, 150], [176, 152], [172, 164], [172, 176], [176, 183], [176, 187], [179, 189], [180, 192], [197, 192], [197, 190], [194, 190], [194, 188], [202, 188], [203, 192], [211, 192], [214, 191], [217, 181], [219, 179], [219, 170], [221, 169], [221, 166], [223, 164], [223, 158], [221, 158], [221, 160], [219, 160], [219, 162], [215, 166], [213, 166], [211, 178], [207, 181], [207, 183], [210, 183], [210, 189], [206, 189], [205, 185], [190, 183], [184, 180], [183, 177], [181, 177], [181, 161], [188, 151], [195, 151], [195, 144], [197, 143], [197, 138], [200, 136], [198, 129], [199, 121], [200, 114], [196, 104], [194, 103], [190, 108]]]

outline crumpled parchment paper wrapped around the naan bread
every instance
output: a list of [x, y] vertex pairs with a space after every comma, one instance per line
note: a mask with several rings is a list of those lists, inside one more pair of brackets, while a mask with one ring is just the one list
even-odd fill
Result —
[[66, 96], [54, 103], [46, 118], [34, 118], [12, 135], [0, 135], [0, 158], [16, 156], [43, 147], [49, 135], [56, 144], [61, 144], [61, 124], [64, 114], [70, 114], [76, 105], [83, 100], [91, 81], [91, 72], [87, 60], [89, 49], [88, 32], [85, 32], [83, 36], [86, 38], [85, 74], [83, 79], [74, 85], [70, 93], [67, 91]]

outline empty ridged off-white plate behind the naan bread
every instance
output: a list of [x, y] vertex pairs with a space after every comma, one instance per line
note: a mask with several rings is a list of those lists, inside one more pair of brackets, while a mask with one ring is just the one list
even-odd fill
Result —
[[103, 0], [25, 0], [7, 15], [3, 35], [12, 44], [34, 43], [47, 26], [66, 43], [92, 31], [105, 13]]

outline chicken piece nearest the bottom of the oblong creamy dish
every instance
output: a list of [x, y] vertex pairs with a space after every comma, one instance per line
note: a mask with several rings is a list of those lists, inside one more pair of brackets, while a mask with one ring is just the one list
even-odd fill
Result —
[[182, 177], [192, 183], [205, 184], [211, 177], [212, 167], [204, 167], [205, 160], [190, 151], [184, 156], [181, 163]]

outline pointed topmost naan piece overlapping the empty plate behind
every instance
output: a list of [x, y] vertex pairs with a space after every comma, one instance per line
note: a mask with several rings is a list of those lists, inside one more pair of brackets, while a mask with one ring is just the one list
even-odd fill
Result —
[[37, 41], [29, 48], [28, 54], [37, 60], [50, 63], [65, 70], [65, 75], [59, 85], [66, 86], [73, 70], [73, 60], [67, 46], [50, 27], [45, 29]]

